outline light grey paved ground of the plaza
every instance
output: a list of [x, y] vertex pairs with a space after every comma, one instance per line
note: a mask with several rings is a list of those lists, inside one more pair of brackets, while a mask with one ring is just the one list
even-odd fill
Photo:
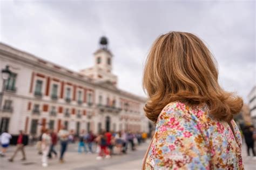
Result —
[[[66, 152], [64, 164], [59, 164], [58, 159], [49, 160], [49, 167], [41, 166], [41, 156], [37, 154], [35, 146], [27, 146], [25, 148], [27, 160], [21, 161], [21, 153], [17, 154], [14, 162], [8, 162], [8, 158], [14, 152], [15, 147], [10, 147], [6, 157], [0, 158], [1, 170], [15, 169], [72, 169], [72, 170], [139, 170], [142, 164], [143, 155], [146, 152], [147, 144], [137, 147], [137, 151], [129, 152], [126, 155], [113, 156], [110, 159], [96, 160], [97, 154], [79, 154], [77, 153], [77, 144], [70, 144], [68, 152]], [[59, 148], [56, 148], [59, 151]], [[246, 157], [245, 146], [243, 146], [243, 159], [245, 169], [253, 170], [256, 168], [256, 160]]]

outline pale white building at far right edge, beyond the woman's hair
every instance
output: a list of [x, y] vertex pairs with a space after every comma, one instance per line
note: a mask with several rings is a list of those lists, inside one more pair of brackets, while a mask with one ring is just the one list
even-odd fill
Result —
[[248, 95], [249, 108], [252, 118], [252, 124], [256, 127], [256, 86], [253, 87]]

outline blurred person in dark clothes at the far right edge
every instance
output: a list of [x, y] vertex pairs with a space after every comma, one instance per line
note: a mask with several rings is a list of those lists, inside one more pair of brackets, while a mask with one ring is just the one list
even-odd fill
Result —
[[244, 129], [244, 132], [242, 132], [242, 134], [244, 134], [244, 137], [245, 137], [245, 144], [247, 147], [248, 157], [250, 157], [250, 150], [252, 150], [252, 155], [253, 155], [253, 157], [255, 157], [253, 130], [254, 130], [253, 126], [246, 126]]

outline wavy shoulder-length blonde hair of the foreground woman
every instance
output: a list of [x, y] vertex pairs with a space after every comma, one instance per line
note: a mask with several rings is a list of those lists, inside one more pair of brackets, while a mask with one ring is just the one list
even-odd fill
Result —
[[240, 97], [221, 89], [215, 59], [192, 33], [169, 32], [158, 37], [147, 56], [143, 87], [149, 96], [144, 111], [156, 123], [172, 101], [205, 103], [218, 120], [231, 121], [243, 105]]

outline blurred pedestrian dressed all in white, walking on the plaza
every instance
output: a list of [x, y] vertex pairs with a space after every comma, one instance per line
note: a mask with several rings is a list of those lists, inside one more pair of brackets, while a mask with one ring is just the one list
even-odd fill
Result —
[[48, 131], [48, 129], [43, 130], [43, 135], [42, 135], [42, 142], [41, 142], [41, 147], [42, 147], [42, 166], [43, 167], [48, 167], [48, 154], [50, 151], [50, 146], [51, 146], [51, 135]]

